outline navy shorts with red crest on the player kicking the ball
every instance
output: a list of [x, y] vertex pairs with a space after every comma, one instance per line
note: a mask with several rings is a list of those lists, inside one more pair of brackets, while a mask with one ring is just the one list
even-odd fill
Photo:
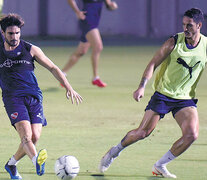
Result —
[[47, 125], [42, 102], [34, 96], [6, 97], [4, 106], [13, 126], [22, 120], [28, 120], [31, 124]]

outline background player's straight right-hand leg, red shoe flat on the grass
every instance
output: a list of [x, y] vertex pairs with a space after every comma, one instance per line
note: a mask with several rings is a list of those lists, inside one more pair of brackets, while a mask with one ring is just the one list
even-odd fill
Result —
[[99, 30], [97, 28], [90, 30], [86, 34], [86, 39], [88, 40], [92, 48], [92, 54], [91, 54], [91, 61], [92, 61], [92, 68], [93, 68], [92, 84], [97, 85], [99, 87], [105, 87], [106, 83], [102, 82], [98, 76], [98, 63], [99, 63], [101, 51], [103, 50], [103, 42]]

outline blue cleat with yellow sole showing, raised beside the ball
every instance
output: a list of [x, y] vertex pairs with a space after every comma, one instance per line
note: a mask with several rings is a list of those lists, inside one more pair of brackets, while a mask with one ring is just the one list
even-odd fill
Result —
[[45, 173], [45, 161], [47, 159], [46, 149], [41, 149], [36, 159], [36, 172], [37, 175], [42, 176]]

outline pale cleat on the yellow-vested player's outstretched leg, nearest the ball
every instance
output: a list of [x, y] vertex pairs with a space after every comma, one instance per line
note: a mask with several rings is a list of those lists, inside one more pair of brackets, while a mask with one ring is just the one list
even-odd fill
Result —
[[116, 155], [113, 157], [113, 155], [111, 154], [112, 153], [112, 149], [114, 147], [112, 147], [104, 156], [103, 158], [101, 159], [101, 162], [99, 164], [99, 171], [101, 173], [104, 173], [105, 171], [107, 171], [107, 169], [110, 167], [111, 163], [114, 161], [114, 159], [119, 156]]

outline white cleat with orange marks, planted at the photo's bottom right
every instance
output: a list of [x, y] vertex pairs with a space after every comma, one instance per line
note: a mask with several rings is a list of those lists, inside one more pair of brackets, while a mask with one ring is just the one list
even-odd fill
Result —
[[152, 174], [156, 176], [162, 176], [165, 178], [177, 178], [176, 175], [171, 174], [167, 170], [166, 166], [156, 166], [155, 164], [152, 167]]

